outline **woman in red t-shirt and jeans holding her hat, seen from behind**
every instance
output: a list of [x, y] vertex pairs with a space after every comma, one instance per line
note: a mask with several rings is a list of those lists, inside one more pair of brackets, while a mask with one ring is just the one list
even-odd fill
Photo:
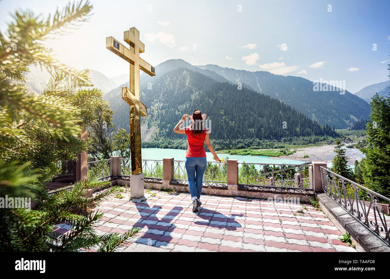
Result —
[[[180, 128], [187, 117], [190, 118], [191, 125]], [[204, 127], [203, 122], [205, 119], [206, 113], [202, 114], [199, 109], [195, 109], [192, 116], [184, 114], [183, 118], [173, 129], [178, 134], [187, 135], [188, 148], [185, 166], [192, 200], [192, 212], [198, 211], [198, 207], [202, 204], [199, 199], [202, 192], [203, 174], [207, 164], [206, 152], [204, 151], [205, 141], [207, 148], [214, 155], [215, 161], [219, 162], [219, 158], [210, 142], [209, 131]]]

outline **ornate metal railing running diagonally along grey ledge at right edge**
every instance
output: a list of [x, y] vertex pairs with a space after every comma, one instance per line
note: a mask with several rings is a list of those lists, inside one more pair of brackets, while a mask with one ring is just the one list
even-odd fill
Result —
[[[320, 166], [320, 170], [324, 192], [344, 208], [349, 215], [390, 246], [390, 230], [387, 226], [390, 218], [384, 214], [383, 210], [379, 212], [376, 204], [378, 201], [390, 203], [390, 199], [322, 166]], [[366, 200], [364, 196], [366, 196]], [[390, 212], [389, 209], [390, 207], [387, 205], [387, 212]]]

